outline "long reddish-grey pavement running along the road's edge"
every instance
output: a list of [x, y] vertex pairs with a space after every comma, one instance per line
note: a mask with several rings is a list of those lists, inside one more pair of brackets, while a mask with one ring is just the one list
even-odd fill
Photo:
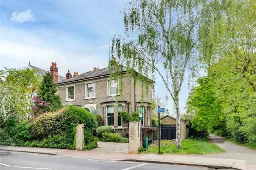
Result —
[[51, 149], [38, 147], [13, 147], [0, 146], [0, 150], [20, 151], [40, 154], [62, 155], [72, 157], [83, 157], [87, 159], [104, 159], [115, 161], [137, 161], [162, 164], [181, 164], [192, 166], [204, 166], [208, 168], [241, 169], [246, 168], [246, 162], [241, 159], [226, 159], [213, 157], [197, 157], [195, 155], [155, 155], [155, 154], [127, 154], [124, 152], [106, 151], [77, 151], [69, 149]]

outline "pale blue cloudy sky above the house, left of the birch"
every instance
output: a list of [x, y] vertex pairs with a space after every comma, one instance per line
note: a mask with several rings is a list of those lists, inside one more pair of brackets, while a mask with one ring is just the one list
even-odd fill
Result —
[[[31, 64], [59, 74], [79, 74], [108, 65], [109, 39], [124, 35], [126, 1], [0, 1], [0, 68]], [[156, 74], [156, 95], [165, 100], [164, 83]], [[180, 94], [184, 112], [187, 79]], [[171, 99], [166, 106], [172, 110]]]

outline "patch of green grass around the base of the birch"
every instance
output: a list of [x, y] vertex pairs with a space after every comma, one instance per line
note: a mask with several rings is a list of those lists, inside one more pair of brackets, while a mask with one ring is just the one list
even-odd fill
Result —
[[[186, 139], [181, 142], [181, 146], [181, 149], [177, 149], [176, 144], [172, 144], [169, 140], [163, 140], [161, 141], [160, 152], [162, 154], [210, 154], [225, 152], [217, 145], [211, 144], [206, 140]], [[150, 146], [146, 152], [158, 153], [158, 145]]]

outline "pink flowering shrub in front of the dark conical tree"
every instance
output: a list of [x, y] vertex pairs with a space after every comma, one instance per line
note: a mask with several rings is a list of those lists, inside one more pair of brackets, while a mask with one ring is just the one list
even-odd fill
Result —
[[50, 104], [43, 101], [42, 98], [38, 97], [37, 95], [34, 95], [32, 98], [33, 106], [31, 106], [31, 109], [33, 111], [33, 116], [37, 117], [38, 115], [46, 112], [48, 110]]

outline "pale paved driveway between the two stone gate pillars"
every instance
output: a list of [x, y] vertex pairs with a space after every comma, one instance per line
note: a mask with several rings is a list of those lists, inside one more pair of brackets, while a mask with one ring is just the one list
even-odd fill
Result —
[[99, 141], [98, 146], [98, 148], [92, 149], [91, 151], [127, 153], [129, 149], [129, 143]]

